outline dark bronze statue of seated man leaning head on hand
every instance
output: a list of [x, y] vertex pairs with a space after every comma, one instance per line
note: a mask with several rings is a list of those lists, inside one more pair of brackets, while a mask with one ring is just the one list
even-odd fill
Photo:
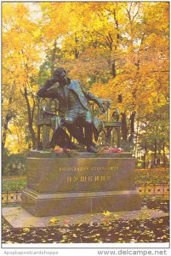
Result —
[[[53, 85], [56, 83], [59, 85], [54, 87]], [[101, 119], [95, 117], [89, 101], [97, 103], [100, 113], [105, 113], [105, 107], [110, 105], [111, 100], [100, 99], [83, 89], [80, 82], [71, 80], [67, 76], [66, 70], [62, 67], [54, 71], [53, 78], [48, 80], [43, 85], [43, 88], [37, 91], [37, 96], [50, 98], [51, 101], [57, 100], [59, 103], [58, 115], [48, 111], [47, 108], [42, 109], [42, 118], [51, 119], [51, 125], [54, 126], [54, 134], [51, 141], [46, 142], [43, 148], [54, 148], [58, 145], [61, 148], [76, 149], [86, 146], [88, 152], [97, 152], [93, 137], [95, 141], [98, 140], [100, 132], [105, 128], [105, 124]], [[118, 110], [116, 113], [118, 121]], [[40, 125], [41, 122], [38, 122], [38, 124]], [[76, 138], [79, 144], [72, 143], [71, 137]], [[40, 143], [39, 148], [41, 148]]]

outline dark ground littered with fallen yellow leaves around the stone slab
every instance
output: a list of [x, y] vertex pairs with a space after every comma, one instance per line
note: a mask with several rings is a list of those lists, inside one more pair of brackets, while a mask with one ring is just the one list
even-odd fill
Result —
[[[168, 212], [168, 201], [145, 201], [148, 208]], [[106, 216], [111, 212], [107, 211]], [[106, 214], [106, 212], [105, 212]], [[68, 223], [68, 218], [66, 218]], [[64, 224], [44, 228], [12, 229], [3, 221], [3, 243], [135, 243], [168, 242], [169, 218], [115, 219], [103, 218], [89, 224]]]

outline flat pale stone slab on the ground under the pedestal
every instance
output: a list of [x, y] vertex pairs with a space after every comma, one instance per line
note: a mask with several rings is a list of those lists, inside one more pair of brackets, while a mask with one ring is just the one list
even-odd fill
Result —
[[[27, 212], [21, 207], [5, 207], [3, 208], [3, 218], [14, 228], [45, 228], [48, 226], [64, 226], [67, 223], [72, 224], [88, 224], [88, 223], [100, 223], [105, 220], [116, 219], [145, 219], [145, 218], [161, 218], [168, 216], [168, 213], [151, 210], [141, 209], [138, 211], [127, 212], [110, 212], [109, 216], [104, 216], [103, 212], [100, 213], [86, 213], [75, 215], [63, 215], [63, 216], [51, 216], [51, 217], [35, 217], [31, 213]], [[56, 221], [52, 221], [55, 219]]]

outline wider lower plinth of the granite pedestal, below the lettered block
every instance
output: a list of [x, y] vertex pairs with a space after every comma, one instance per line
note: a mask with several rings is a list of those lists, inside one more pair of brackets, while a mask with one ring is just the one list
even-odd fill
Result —
[[34, 216], [68, 215], [104, 211], [132, 211], [141, 207], [134, 190], [41, 194], [25, 189], [22, 207]]

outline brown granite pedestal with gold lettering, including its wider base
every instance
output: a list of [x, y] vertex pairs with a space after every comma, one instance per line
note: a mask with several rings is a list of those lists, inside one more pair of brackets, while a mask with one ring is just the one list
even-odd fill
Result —
[[22, 207], [38, 217], [139, 210], [134, 169], [128, 153], [31, 152]]

